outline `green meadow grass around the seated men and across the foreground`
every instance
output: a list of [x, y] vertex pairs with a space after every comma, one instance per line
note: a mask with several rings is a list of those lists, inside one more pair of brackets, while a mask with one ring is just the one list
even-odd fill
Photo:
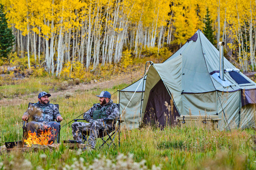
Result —
[[[117, 89], [124, 88], [125, 84], [107, 89], [111, 94]], [[76, 91], [73, 97], [51, 96], [51, 103], [60, 105], [60, 113], [66, 124], [98, 102], [95, 96], [103, 89]], [[104, 89], [106, 90], [106, 89]], [[112, 96], [117, 102], [117, 92]], [[0, 144], [6, 141], [21, 140], [23, 121], [21, 117], [28, 107], [27, 99], [0, 106]], [[73, 139], [71, 124], [61, 128], [60, 141]], [[204, 129], [167, 127], [164, 130], [156, 128], [122, 129], [121, 146], [100, 150], [85, 151], [80, 154], [70, 152], [64, 146], [59, 151], [38, 153], [9, 153], [0, 156], [0, 169], [111, 169], [108, 166], [116, 165], [121, 169], [129, 164], [130, 169], [136, 169], [134, 162], [145, 165], [148, 169], [256, 169], [256, 154], [253, 150], [255, 131], [253, 129], [234, 129], [230, 131], [205, 131]], [[117, 144], [117, 138], [115, 140]], [[97, 146], [101, 143], [100, 139]], [[96, 146], [96, 147], [97, 147]], [[120, 158], [120, 154], [133, 154], [131, 158]], [[82, 159], [83, 158], [83, 162]], [[28, 160], [27, 162], [24, 160]], [[79, 160], [81, 159], [81, 160]], [[97, 162], [100, 159], [100, 163]], [[145, 160], [145, 163], [141, 162]], [[31, 163], [31, 166], [30, 164]], [[23, 165], [23, 166], [22, 166]], [[69, 166], [69, 168], [68, 168]], [[72, 168], [73, 167], [73, 168]], [[3, 169], [3, 167], [2, 167]], [[115, 168], [112, 168], [115, 169]], [[128, 169], [128, 168], [123, 168]], [[140, 169], [143, 169], [140, 166]], [[145, 169], [145, 168], [144, 168]]]

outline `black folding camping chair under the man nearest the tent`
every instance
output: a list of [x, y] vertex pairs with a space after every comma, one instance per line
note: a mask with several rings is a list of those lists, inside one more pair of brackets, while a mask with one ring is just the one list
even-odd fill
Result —
[[[118, 106], [118, 110], [119, 110], [119, 104], [117, 104]], [[77, 122], [78, 120], [85, 120], [85, 119], [74, 119], [75, 122]], [[116, 137], [116, 134], [118, 133], [118, 145], [120, 146], [120, 126], [121, 126], [121, 123], [124, 122], [124, 120], [121, 120], [120, 119], [120, 114], [118, 116], [118, 119], [104, 119], [104, 124], [106, 124], [106, 121], [108, 120], [116, 120], [118, 121], [118, 129], [116, 129], [116, 125], [114, 125], [113, 128], [101, 128], [99, 129], [99, 134], [97, 136], [97, 138], [101, 138], [102, 140], [102, 144], [100, 146], [100, 148], [104, 145], [104, 144], [107, 144], [108, 147], [110, 147], [110, 145], [113, 143], [113, 145], [116, 147], [115, 143], [114, 143], [114, 139]], [[115, 135], [113, 138], [112, 136]], [[87, 141], [87, 137], [90, 136], [90, 130], [88, 129], [87, 131], [83, 131], [82, 132], [82, 136], [83, 136], [83, 143], [85, 143]], [[104, 140], [104, 137], [107, 136], [108, 138], [106, 140]], [[107, 141], [110, 140], [110, 144], [107, 143]]]

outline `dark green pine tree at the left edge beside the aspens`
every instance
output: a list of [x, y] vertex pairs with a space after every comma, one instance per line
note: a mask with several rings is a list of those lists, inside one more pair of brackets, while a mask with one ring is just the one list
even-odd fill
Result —
[[14, 35], [12, 29], [8, 28], [5, 18], [4, 6], [0, 4], [0, 59], [8, 58], [14, 44]]

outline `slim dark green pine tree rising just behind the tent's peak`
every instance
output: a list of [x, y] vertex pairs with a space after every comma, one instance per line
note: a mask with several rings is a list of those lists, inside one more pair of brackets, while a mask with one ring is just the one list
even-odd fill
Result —
[[203, 22], [205, 24], [205, 27], [203, 27], [204, 28], [204, 35], [208, 38], [208, 40], [213, 45], [215, 45], [216, 44], [216, 39], [215, 39], [214, 34], [213, 34], [213, 32], [215, 30], [212, 29], [212, 22], [213, 22], [213, 20], [210, 18], [208, 8], [206, 9], [206, 15], [205, 15], [205, 18], [204, 18]]

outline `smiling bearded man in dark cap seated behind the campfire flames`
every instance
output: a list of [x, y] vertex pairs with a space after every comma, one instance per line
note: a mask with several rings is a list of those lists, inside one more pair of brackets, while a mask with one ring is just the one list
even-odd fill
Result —
[[40, 92], [38, 102], [30, 105], [21, 119], [24, 121], [27, 121], [29, 118], [32, 119], [31, 122], [26, 124], [28, 132], [36, 132], [37, 134], [37, 130], [51, 130], [52, 135], [50, 135], [48, 143], [51, 141], [54, 143], [60, 129], [60, 123], [54, 122], [54, 119], [62, 121], [63, 118], [60, 115], [59, 109], [54, 104], [50, 103], [50, 96], [51, 94], [47, 92]]

